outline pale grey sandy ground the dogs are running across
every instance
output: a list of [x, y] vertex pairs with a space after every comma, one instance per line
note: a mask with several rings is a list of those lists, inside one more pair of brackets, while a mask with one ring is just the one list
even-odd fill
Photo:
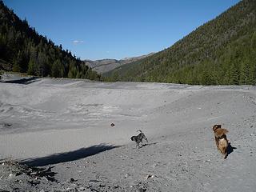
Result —
[[[0, 82], [0, 159], [54, 166], [58, 179], [31, 186], [2, 165], [0, 191], [254, 191], [255, 120], [255, 86]], [[214, 124], [230, 131], [226, 160]]]

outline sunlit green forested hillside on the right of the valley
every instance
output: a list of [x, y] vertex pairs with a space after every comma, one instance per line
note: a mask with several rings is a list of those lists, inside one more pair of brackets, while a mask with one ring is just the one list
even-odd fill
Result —
[[105, 74], [110, 81], [256, 84], [256, 1], [243, 0], [166, 50]]

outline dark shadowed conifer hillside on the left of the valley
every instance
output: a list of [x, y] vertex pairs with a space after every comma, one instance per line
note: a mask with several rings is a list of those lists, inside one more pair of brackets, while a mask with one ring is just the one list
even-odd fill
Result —
[[100, 76], [62, 45], [39, 35], [26, 20], [0, 1], [0, 70], [38, 76], [90, 78]]

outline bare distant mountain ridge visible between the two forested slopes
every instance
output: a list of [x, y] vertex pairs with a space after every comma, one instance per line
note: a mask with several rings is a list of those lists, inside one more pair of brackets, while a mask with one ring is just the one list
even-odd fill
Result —
[[133, 58], [122, 58], [120, 60], [106, 58], [106, 59], [100, 59], [95, 61], [84, 60], [84, 62], [86, 63], [87, 66], [90, 66], [92, 70], [96, 71], [99, 74], [104, 74], [110, 70], [114, 70], [118, 66], [123, 66], [123, 65], [129, 64], [130, 62], [136, 62], [142, 58], [149, 57], [150, 55], [153, 55], [153, 54], [154, 53], [145, 54], [145, 55], [133, 57]]

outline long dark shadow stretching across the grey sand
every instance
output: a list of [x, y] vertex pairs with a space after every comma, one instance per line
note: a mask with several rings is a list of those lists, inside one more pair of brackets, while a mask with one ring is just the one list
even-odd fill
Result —
[[52, 164], [57, 164], [60, 162], [72, 162], [80, 158], [86, 158], [94, 154], [99, 154], [106, 150], [112, 150], [120, 146], [112, 146], [106, 144], [100, 144], [95, 146], [90, 146], [87, 148], [81, 148], [79, 150], [74, 150], [70, 152], [64, 152], [59, 154], [51, 154], [42, 158], [30, 158], [22, 160], [22, 164], [27, 166], [48, 166]]

